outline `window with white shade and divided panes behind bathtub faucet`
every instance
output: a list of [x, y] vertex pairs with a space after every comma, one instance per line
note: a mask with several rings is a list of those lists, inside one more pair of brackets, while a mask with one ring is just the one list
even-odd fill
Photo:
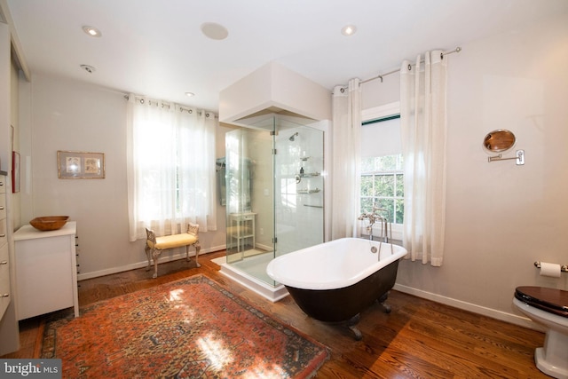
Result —
[[[404, 162], [398, 103], [363, 111], [360, 212], [370, 212], [374, 204], [386, 209], [383, 216], [392, 223], [393, 239], [401, 240]], [[367, 234], [367, 231], [361, 232]]]

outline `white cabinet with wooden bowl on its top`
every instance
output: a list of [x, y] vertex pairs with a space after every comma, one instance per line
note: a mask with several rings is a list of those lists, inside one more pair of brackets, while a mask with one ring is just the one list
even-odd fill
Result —
[[14, 233], [18, 320], [74, 307], [79, 316], [75, 221], [41, 232], [31, 225]]

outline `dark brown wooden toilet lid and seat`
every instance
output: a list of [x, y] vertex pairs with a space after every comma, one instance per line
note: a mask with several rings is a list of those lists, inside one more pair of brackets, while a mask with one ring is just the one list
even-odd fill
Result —
[[568, 317], [568, 291], [546, 287], [517, 287], [515, 297], [543, 311]]

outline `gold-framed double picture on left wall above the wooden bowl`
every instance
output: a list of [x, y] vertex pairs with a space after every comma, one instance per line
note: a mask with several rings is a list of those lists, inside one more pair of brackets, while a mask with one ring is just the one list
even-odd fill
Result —
[[74, 151], [57, 152], [59, 179], [104, 179], [105, 154]]

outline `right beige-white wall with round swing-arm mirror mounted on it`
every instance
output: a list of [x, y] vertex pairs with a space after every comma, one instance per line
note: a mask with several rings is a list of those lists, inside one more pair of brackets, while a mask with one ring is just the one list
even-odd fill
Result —
[[[525, 324], [513, 316], [517, 286], [568, 289], [568, 273], [550, 279], [533, 266], [568, 265], [568, 17], [461, 47], [446, 57], [444, 265], [403, 261], [397, 288]], [[398, 96], [398, 75], [363, 87], [364, 107]], [[525, 166], [487, 162], [483, 138], [499, 128], [517, 135]]]

